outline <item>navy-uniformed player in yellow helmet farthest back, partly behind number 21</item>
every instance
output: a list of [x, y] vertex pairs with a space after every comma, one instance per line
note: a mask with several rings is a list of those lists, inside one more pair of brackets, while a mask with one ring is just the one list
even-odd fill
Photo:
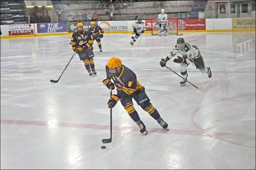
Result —
[[88, 29], [88, 31], [92, 34], [93, 39], [97, 41], [100, 52], [102, 52], [100, 39], [103, 37], [104, 29], [98, 25], [95, 25], [95, 22], [92, 21], [91, 27]]

